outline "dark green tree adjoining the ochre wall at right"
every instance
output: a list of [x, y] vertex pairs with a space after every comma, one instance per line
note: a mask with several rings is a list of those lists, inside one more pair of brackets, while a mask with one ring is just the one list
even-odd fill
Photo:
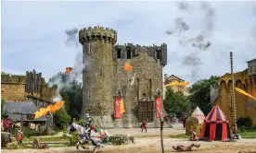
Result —
[[211, 76], [208, 79], [201, 79], [188, 88], [190, 93], [188, 100], [193, 108], [198, 106], [205, 114], [211, 111], [210, 88], [219, 78], [219, 76]]

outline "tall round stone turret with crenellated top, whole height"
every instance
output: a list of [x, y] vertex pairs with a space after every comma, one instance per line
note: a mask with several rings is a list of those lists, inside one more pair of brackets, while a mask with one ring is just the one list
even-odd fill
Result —
[[[113, 29], [91, 28], [81, 29], [79, 41], [83, 45], [83, 111], [96, 103], [104, 106], [103, 121], [106, 127], [114, 127], [111, 113], [114, 109], [113, 82], [113, 46], [117, 41], [117, 32]], [[107, 110], [106, 110], [107, 109]], [[94, 112], [95, 110], [92, 110]], [[98, 110], [97, 110], [98, 112]], [[100, 114], [94, 113], [96, 116]], [[100, 121], [100, 120], [99, 120]]]

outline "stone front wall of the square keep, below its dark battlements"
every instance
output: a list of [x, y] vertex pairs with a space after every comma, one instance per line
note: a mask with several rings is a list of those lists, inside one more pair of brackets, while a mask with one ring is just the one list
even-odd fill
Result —
[[[131, 72], [124, 70], [125, 63], [133, 66]], [[134, 81], [134, 84], [131, 86], [132, 81]], [[162, 66], [160, 60], [148, 56], [147, 47], [142, 47], [140, 54], [132, 59], [118, 59], [114, 66], [113, 94], [117, 95], [118, 91], [122, 91], [126, 113], [122, 116], [122, 119], [115, 120], [122, 120], [120, 123], [125, 127], [138, 124], [138, 100], [154, 101], [155, 107], [155, 97], [159, 90], [162, 90]], [[155, 113], [152, 115], [155, 118]]]

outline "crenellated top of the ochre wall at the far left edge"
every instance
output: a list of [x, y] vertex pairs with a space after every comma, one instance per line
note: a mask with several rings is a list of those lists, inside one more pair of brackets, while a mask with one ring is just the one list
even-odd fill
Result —
[[1, 75], [1, 84], [26, 84], [26, 76]]

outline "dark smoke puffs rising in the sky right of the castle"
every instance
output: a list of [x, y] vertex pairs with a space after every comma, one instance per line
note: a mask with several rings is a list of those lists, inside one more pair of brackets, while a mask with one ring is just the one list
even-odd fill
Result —
[[[181, 12], [186, 13], [186, 16], [188, 15], [187, 10], [190, 9], [190, 7], [191, 6], [189, 6], [186, 1], [179, 2], [177, 5], [177, 8]], [[198, 69], [201, 65], [203, 65], [199, 53], [202, 51], [206, 51], [211, 47], [211, 41], [207, 40], [211, 36], [211, 30], [214, 28], [215, 18], [214, 9], [208, 2], [200, 2], [199, 7], [196, 9], [199, 9], [199, 12], [201, 12], [200, 14], [203, 17], [203, 20], [198, 21], [198, 23], [201, 25], [201, 29], [199, 29], [198, 34], [195, 35], [195, 33], [193, 33], [193, 35], [189, 35], [189, 30], [191, 30], [191, 26], [189, 26], [189, 23], [183, 17], [177, 17], [174, 20], [175, 29], [166, 31], [168, 35], [172, 36], [173, 33], [177, 32], [177, 39], [179, 40], [180, 45], [186, 47], [187, 50], [191, 51], [191, 53], [189, 53], [188, 55], [183, 56], [182, 65], [186, 66], [191, 71], [190, 74], [193, 77], [198, 76]], [[194, 18], [193, 14], [189, 14], [189, 17]]]

